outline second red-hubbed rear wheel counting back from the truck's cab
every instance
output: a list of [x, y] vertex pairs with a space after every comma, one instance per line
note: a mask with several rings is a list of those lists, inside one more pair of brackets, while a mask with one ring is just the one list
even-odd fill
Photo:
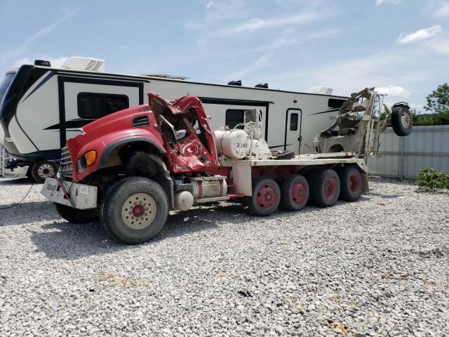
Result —
[[283, 180], [281, 186], [281, 206], [290, 211], [304, 209], [309, 199], [309, 184], [306, 178], [293, 174]]

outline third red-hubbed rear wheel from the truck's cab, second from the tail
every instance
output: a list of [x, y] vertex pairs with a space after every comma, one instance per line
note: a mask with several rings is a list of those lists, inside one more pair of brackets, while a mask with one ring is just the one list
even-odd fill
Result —
[[340, 178], [337, 172], [326, 169], [316, 173], [311, 191], [311, 197], [316, 206], [333, 206], [340, 195]]

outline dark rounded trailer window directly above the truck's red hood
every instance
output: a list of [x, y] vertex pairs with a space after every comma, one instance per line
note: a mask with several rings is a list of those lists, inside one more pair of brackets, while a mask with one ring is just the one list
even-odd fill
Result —
[[100, 118], [129, 107], [127, 95], [113, 93], [79, 93], [78, 115], [81, 118]]

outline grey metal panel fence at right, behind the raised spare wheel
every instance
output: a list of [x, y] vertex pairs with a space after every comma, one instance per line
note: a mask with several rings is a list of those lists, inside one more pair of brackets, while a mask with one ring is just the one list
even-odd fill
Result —
[[398, 137], [391, 128], [380, 134], [382, 157], [370, 158], [370, 174], [397, 179], [415, 179], [420, 169], [449, 174], [449, 125], [414, 126], [407, 137]]

